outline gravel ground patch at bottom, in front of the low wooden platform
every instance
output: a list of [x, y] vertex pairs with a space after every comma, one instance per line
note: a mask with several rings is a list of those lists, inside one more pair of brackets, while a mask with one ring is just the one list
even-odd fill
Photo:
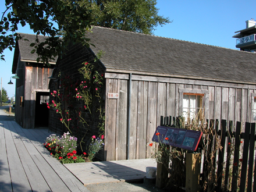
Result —
[[91, 192], [166, 192], [169, 190], [159, 189], [155, 187], [154, 183], [143, 183], [143, 182], [134, 182], [134, 183], [127, 183], [127, 182], [115, 182], [115, 183], [99, 183], [99, 184], [88, 184], [87, 189]]

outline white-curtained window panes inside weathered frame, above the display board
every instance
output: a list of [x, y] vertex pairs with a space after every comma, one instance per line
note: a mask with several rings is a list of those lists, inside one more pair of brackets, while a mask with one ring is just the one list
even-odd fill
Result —
[[204, 110], [204, 95], [203, 94], [183, 94], [183, 109], [182, 116], [185, 122], [190, 122], [191, 119], [203, 117]]

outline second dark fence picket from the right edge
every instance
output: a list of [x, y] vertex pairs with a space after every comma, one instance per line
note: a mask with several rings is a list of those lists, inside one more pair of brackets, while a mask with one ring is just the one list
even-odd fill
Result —
[[246, 190], [246, 178], [247, 178], [247, 165], [248, 165], [248, 150], [250, 143], [250, 130], [251, 123], [246, 122], [246, 128], [244, 132], [244, 145], [243, 145], [243, 162], [241, 162], [241, 182], [240, 182], [240, 192]]

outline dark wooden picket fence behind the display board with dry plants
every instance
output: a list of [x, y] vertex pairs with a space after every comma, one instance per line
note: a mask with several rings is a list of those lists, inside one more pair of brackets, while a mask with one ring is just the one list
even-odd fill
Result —
[[[172, 116], [163, 118], [161, 116], [161, 126], [179, 127], [180, 118]], [[219, 129], [221, 127], [221, 129]], [[204, 146], [202, 151], [202, 174], [201, 182], [207, 182], [209, 175], [216, 178], [215, 183], [208, 184], [205, 191], [256, 191], [255, 172], [255, 123], [246, 122], [244, 132], [241, 133], [241, 122], [236, 122], [234, 126], [232, 121], [227, 120], [207, 120], [207, 129], [213, 129], [214, 135], [204, 134]], [[223, 137], [224, 136], [224, 137]], [[221, 144], [221, 148], [216, 145]], [[215, 149], [218, 150], [215, 150]], [[215, 153], [210, 156], [209, 154]], [[214, 158], [213, 161], [212, 159]], [[212, 163], [214, 174], [210, 173], [209, 162]], [[207, 170], [208, 169], [208, 170]]]

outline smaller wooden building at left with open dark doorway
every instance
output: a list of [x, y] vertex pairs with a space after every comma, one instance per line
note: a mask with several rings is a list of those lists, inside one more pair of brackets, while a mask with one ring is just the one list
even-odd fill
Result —
[[[48, 77], [52, 74], [55, 62], [51, 62], [50, 67], [38, 63], [38, 56], [31, 54], [33, 47], [30, 47], [30, 44], [35, 42], [35, 35], [21, 35], [23, 38], [16, 41], [12, 65], [12, 73], [19, 77], [16, 79], [15, 120], [26, 129], [48, 127]], [[43, 42], [44, 38], [39, 35], [40, 42]]]

